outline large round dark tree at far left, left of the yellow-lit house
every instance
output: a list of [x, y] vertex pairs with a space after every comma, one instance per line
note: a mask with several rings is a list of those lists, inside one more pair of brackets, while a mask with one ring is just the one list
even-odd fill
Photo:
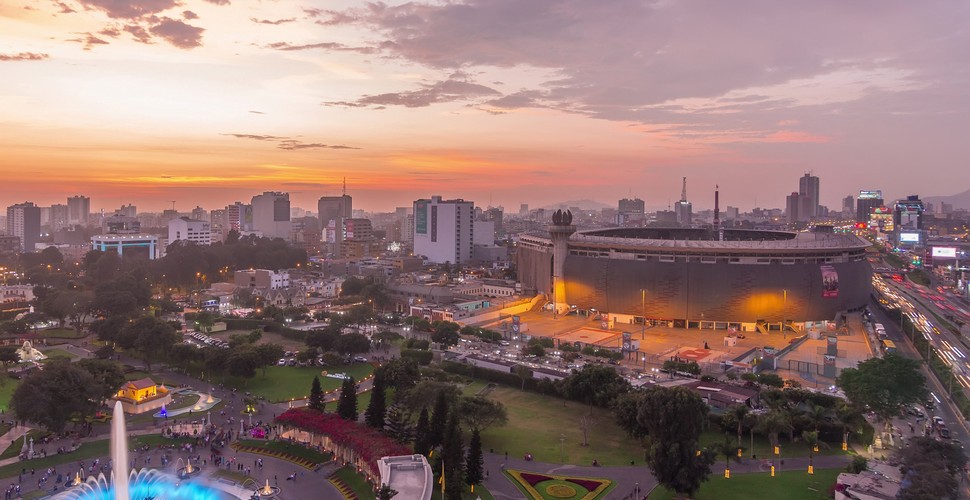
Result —
[[61, 432], [71, 417], [94, 413], [96, 391], [90, 373], [66, 359], [54, 359], [20, 383], [10, 404], [18, 419]]

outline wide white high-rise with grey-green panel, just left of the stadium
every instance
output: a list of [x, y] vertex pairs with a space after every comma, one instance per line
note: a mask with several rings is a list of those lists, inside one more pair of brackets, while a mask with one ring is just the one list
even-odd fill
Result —
[[414, 254], [429, 262], [462, 264], [472, 259], [475, 204], [440, 196], [414, 202]]

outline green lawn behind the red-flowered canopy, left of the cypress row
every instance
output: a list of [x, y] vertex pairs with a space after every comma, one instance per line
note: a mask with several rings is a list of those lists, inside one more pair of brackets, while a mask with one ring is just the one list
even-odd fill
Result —
[[[227, 379], [226, 386], [234, 387], [239, 392], [251, 392], [272, 402], [307, 397], [310, 394], [310, 385], [313, 384], [314, 376], [320, 377], [320, 386], [324, 392], [339, 389], [342, 380], [324, 377], [321, 374], [322, 370], [320, 367], [270, 366], [266, 368], [266, 375], [263, 375], [263, 370], [259, 369], [256, 371], [256, 376], [249, 380]], [[346, 373], [359, 381], [374, 373], [374, 367], [368, 363], [354, 363], [329, 367], [327, 371]]]

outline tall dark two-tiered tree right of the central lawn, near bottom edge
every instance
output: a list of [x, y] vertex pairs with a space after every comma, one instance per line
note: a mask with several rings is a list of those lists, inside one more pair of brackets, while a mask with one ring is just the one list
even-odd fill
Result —
[[660, 484], [678, 494], [692, 496], [711, 474], [713, 454], [698, 453], [707, 412], [704, 400], [683, 387], [644, 393], [638, 420], [647, 430], [647, 465]]

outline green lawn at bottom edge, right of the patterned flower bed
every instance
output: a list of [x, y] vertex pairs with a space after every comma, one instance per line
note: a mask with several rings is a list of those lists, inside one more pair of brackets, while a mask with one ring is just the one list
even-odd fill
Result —
[[[735, 474], [731, 479], [711, 476], [701, 486], [695, 500], [722, 500], [724, 498], [784, 498], [785, 500], [822, 500], [832, 498], [829, 487], [843, 469], [819, 469], [814, 476], [805, 471], [784, 471], [771, 477], [767, 473]], [[658, 486], [650, 493], [650, 500], [672, 500], [676, 496]]]

